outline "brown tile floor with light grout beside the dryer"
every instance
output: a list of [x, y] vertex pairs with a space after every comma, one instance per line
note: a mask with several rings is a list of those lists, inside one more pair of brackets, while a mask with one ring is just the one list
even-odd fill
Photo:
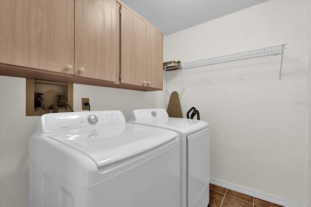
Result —
[[233, 190], [209, 184], [208, 207], [281, 207]]

